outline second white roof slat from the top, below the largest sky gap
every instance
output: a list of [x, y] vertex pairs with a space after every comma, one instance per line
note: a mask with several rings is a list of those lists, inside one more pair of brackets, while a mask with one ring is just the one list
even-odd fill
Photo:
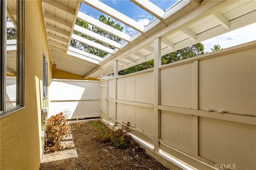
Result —
[[103, 2], [100, 2], [99, 0], [83, 0], [83, 2], [98, 11], [107, 14], [111, 18], [114, 18], [118, 20], [119, 22], [122, 22], [123, 24], [139, 31], [140, 33], [143, 33], [145, 26], [140, 24], [139, 22], [133, 20], [132, 18], [120, 13], [119, 11], [109, 7], [108, 5], [104, 4]]

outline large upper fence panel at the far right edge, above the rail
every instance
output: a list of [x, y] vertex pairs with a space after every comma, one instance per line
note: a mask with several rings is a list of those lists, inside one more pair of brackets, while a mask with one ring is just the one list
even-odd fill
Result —
[[199, 109], [256, 116], [255, 48], [200, 60]]

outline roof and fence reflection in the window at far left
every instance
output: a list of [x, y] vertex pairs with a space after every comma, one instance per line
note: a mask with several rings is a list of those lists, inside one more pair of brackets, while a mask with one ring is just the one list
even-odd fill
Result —
[[8, 109], [17, 105], [17, 0], [6, 2], [6, 109]]

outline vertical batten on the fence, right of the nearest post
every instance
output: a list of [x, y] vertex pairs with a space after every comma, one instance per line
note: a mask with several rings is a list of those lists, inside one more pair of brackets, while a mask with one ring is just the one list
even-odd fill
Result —
[[[198, 60], [194, 61], [194, 107], [198, 110]], [[193, 116], [193, 151], [195, 155], [198, 155], [198, 116]]]

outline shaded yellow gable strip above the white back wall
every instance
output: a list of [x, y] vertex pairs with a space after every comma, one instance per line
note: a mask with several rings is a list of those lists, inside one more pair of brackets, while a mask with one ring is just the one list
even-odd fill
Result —
[[[58, 67], [58, 65], [57, 65], [57, 67]], [[71, 73], [71, 72], [59, 70], [59, 69], [54, 69], [53, 70], [52, 78], [75, 79], [75, 80], [96, 80], [96, 81], [99, 81], [99, 79], [90, 78], [90, 77], [86, 78], [86, 79], [83, 79], [83, 76], [80, 76], [78, 74], [74, 74], [74, 73]]]

